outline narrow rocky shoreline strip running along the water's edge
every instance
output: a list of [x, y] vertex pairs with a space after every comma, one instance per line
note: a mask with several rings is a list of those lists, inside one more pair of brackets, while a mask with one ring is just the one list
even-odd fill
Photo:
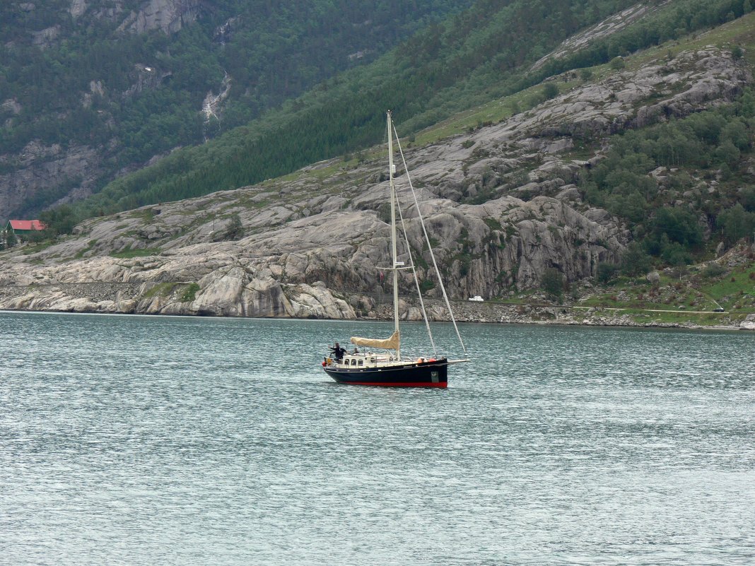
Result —
[[[171, 294], [151, 294], [158, 285], [168, 285]], [[186, 282], [125, 283], [88, 281], [37, 285], [0, 285], [0, 311], [5, 312], [79, 312], [91, 314], [212, 316], [219, 318], [281, 318], [299, 320], [393, 320], [393, 305], [383, 294], [327, 291], [331, 305], [339, 308], [284, 308], [283, 300], [260, 301], [260, 308], [242, 308], [240, 297], [219, 295], [198, 306], [182, 297]], [[325, 288], [323, 287], [325, 291]], [[321, 295], [320, 298], [325, 295]], [[273, 297], [267, 297], [272, 299]], [[285, 301], [293, 298], [286, 298]], [[325, 304], [325, 303], [322, 303]], [[433, 322], [450, 322], [445, 303], [424, 297], [427, 316]], [[550, 303], [500, 303], [497, 301], [451, 300], [458, 322], [476, 324], [562, 325], [615, 328], [687, 328], [691, 330], [755, 331], [755, 313], [707, 312], [683, 309], [632, 309], [627, 307], [584, 306]], [[399, 318], [422, 321], [418, 297], [401, 297]], [[304, 312], [297, 315], [296, 312]], [[701, 321], [710, 324], [701, 324]]]

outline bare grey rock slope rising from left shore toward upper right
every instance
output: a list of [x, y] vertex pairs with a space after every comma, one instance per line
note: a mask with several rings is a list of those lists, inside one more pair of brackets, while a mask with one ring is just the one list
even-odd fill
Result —
[[[600, 261], [618, 260], [629, 233], [581, 200], [575, 179], [600, 156], [570, 158], [574, 140], [694, 112], [729, 100], [750, 80], [726, 51], [707, 48], [574, 88], [497, 125], [408, 149], [419, 207], [451, 296], [533, 288], [550, 267], [581, 281], [595, 275]], [[293, 180], [88, 220], [48, 248], [5, 252], [0, 308], [376, 315], [389, 291], [379, 269], [389, 264], [384, 161], [381, 155], [353, 168], [328, 161]], [[420, 280], [437, 296], [403, 171], [397, 185], [408, 236], [401, 259], [408, 263], [411, 251]], [[406, 275], [401, 285], [408, 294], [414, 284]], [[405, 306], [403, 315], [413, 318], [415, 310]]]

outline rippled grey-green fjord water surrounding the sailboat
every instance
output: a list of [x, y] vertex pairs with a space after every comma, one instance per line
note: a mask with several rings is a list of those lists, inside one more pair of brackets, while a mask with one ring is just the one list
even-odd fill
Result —
[[461, 330], [396, 390], [319, 367], [381, 323], [0, 313], [0, 564], [755, 563], [755, 334]]

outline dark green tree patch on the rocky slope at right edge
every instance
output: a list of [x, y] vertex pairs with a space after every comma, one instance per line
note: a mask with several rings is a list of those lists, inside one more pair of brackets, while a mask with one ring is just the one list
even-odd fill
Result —
[[[753, 139], [752, 91], [730, 106], [612, 137], [606, 158], [580, 184], [590, 204], [633, 226], [628, 275], [651, 263], [684, 266], [704, 257], [704, 226], [728, 245], [753, 235], [755, 187], [747, 183]], [[716, 194], [701, 190], [709, 186], [702, 180], [713, 181]], [[675, 206], [680, 195], [692, 202]]]

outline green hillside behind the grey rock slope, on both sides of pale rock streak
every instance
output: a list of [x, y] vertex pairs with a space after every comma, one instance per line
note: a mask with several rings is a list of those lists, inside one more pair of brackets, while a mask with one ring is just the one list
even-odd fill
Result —
[[323, 82], [299, 99], [218, 140], [174, 152], [116, 180], [75, 208], [75, 217], [125, 210], [257, 183], [377, 143], [391, 108], [404, 133], [516, 94], [556, 72], [607, 63], [691, 31], [741, 17], [739, 0], [679, 0], [584, 50], [532, 63], [563, 39], [633, 2], [485, 0], [414, 35], [369, 66]]

